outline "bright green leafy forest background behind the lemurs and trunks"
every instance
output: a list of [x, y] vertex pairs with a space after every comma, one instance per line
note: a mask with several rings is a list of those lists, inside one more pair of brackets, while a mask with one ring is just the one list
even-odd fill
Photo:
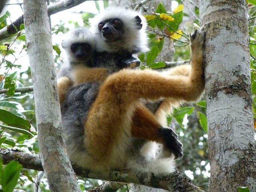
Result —
[[[49, 1], [50, 4], [56, 1]], [[138, 57], [141, 69], [161, 70], [178, 65], [176, 61], [189, 59], [189, 33], [200, 27], [199, 10], [194, 1], [176, 0], [172, 9], [162, 3], [144, 10], [148, 21], [148, 35], [151, 50]], [[22, 1], [16, 1], [22, 9]], [[88, 6], [85, 2], [81, 4]], [[256, 2], [247, 0], [249, 20], [250, 65], [253, 94], [253, 114], [256, 115]], [[90, 6], [96, 12], [108, 6], [108, 1], [94, 1]], [[13, 1], [1, 14], [0, 30], [14, 22], [11, 18]], [[82, 6], [81, 6], [82, 7]], [[61, 48], [62, 34], [81, 25], [88, 26], [95, 13], [75, 12], [75, 18], [52, 24], [53, 55], [56, 72], [64, 62]], [[17, 18], [18, 19], [18, 18]], [[14, 28], [18, 32], [8, 37], [0, 32], [0, 148], [39, 154], [37, 143], [37, 127], [34, 109], [33, 83], [25, 45], [24, 24]], [[166, 44], [169, 47], [166, 47]], [[171, 46], [171, 47], [170, 47]], [[174, 49], [174, 51], [173, 51]], [[167, 56], [166, 56], [167, 55]], [[43, 94], [43, 93], [42, 93]], [[256, 116], [255, 116], [256, 117]], [[255, 118], [254, 117], [254, 118]], [[185, 104], [175, 109], [167, 117], [170, 126], [174, 127], [183, 143], [184, 156], [177, 161], [178, 170], [192, 182], [203, 188], [209, 188], [210, 164], [207, 151], [207, 119], [206, 101], [204, 98], [194, 104]], [[102, 184], [101, 180], [78, 179], [82, 191]], [[36, 170], [22, 169], [18, 162], [3, 165], [0, 160], [0, 185], [4, 192], [22, 189], [26, 192], [40, 188], [49, 191], [45, 176]], [[128, 191], [124, 186], [119, 191]], [[241, 191], [247, 189], [241, 189]]]

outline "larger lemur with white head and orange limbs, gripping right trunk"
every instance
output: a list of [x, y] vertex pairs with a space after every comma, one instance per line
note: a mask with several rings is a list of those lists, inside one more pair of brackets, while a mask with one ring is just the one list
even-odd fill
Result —
[[[163, 143], [176, 158], [182, 156], [177, 135], [163, 128], [141, 99], [191, 102], [200, 97], [204, 90], [204, 33], [195, 31], [191, 36], [190, 66], [179, 66], [167, 74], [148, 69], [118, 71], [122, 68], [118, 64], [120, 57], [147, 50], [144, 18], [132, 10], [115, 7], [96, 16], [92, 23], [95, 61], [90, 65], [91, 60], [85, 59], [83, 65], [72, 68], [72, 87], [61, 107], [70, 160], [94, 171], [131, 168], [156, 174], [172, 172], [173, 158], [141, 154], [142, 146], [150, 140]], [[110, 60], [106, 61], [106, 55]], [[89, 79], [91, 72], [98, 69], [107, 75], [95, 73], [95, 78]], [[118, 72], [109, 75], [112, 69]], [[66, 86], [62, 82], [59, 79], [59, 89]]]

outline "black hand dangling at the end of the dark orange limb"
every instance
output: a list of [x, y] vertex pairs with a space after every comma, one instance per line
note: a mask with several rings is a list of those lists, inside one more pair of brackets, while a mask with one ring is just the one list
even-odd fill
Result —
[[175, 159], [181, 158], [182, 143], [178, 140], [178, 135], [170, 128], [160, 128], [158, 134], [163, 138], [164, 145], [175, 156]]

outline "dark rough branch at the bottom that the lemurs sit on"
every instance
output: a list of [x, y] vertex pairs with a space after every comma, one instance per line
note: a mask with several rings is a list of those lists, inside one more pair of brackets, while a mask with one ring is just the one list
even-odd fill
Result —
[[[40, 155], [1, 149], [0, 157], [2, 158], [4, 164], [7, 164], [10, 161], [18, 161], [23, 165], [24, 168], [38, 171], [43, 170]], [[168, 191], [203, 192], [203, 190], [192, 184], [186, 177], [183, 177], [179, 171], [175, 171], [174, 173], [165, 176], [154, 176], [153, 174], [134, 174], [128, 170], [97, 174], [89, 170], [83, 170], [81, 167], [74, 167], [74, 171], [78, 176], [92, 179], [136, 183], [154, 188], [161, 188]]]

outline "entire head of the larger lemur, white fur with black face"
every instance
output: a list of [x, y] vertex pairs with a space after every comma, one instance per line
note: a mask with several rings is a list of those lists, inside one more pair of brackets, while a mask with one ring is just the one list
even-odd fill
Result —
[[108, 7], [91, 20], [98, 52], [139, 53], [148, 50], [147, 23], [138, 12]]

